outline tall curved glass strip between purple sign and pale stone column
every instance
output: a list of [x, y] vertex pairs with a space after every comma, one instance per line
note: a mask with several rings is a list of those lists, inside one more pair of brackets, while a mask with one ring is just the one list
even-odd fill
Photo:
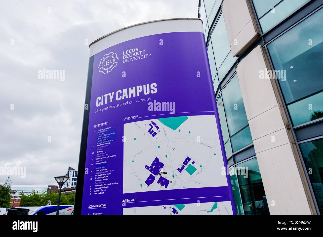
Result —
[[[238, 76], [234, 69], [238, 58], [233, 57], [231, 53], [224, 17], [220, 7], [221, 2], [222, 0], [202, 0], [200, 17], [203, 20], [203, 28], [205, 29], [207, 52], [214, 91], [216, 93], [225, 153], [228, 164], [231, 166], [230, 178], [236, 211], [241, 215], [269, 214], [266, 198], [263, 198], [266, 195], [264, 194], [259, 168], [257, 168], [257, 158], [254, 157], [252, 160], [246, 161], [246, 164], [254, 164], [252, 167], [247, 167], [247, 170], [248, 172], [249, 169], [250, 172], [257, 170], [258, 178], [255, 178], [254, 174], [251, 176], [246, 176], [243, 173], [240, 174], [240, 170], [237, 170], [235, 165], [239, 162], [241, 163], [241, 160], [250, 159], [250, 157], [255, 156], [255, 151], [252, 145]], [[203, 9], [205, 9], [206, 13], [202, 12]], [[205, 14], [205, 17], [203, 17], [203, 14]], [[204, 20], [205, 18], [207, 18], [207, 21]], [[244, 150], [249, 150], [249, 152], [243, 154]], [[235, 159], [236, 156], [239, 158]], [[242, 162], [242, 164], [244, 163]], [[255, 171], [252, 172], [254, 173]], [[256, 188], [259, 185], [262, 186], [262, 189]], [[266, 211], [261, 212], [261, 210]]]

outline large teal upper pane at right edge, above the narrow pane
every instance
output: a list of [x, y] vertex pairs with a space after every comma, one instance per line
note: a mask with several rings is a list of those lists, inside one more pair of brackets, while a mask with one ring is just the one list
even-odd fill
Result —
[[[268, 44], [286, 103], [323, 89], [323, 10], [305, 19]], [[286, 81], [285, 81], [286, 80]]]

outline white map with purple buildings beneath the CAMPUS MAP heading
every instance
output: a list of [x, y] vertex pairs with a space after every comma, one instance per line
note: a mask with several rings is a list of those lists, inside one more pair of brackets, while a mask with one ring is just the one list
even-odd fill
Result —
[[123, 193], [227, 186], [214, 115], [125, 123], [124, 137]]

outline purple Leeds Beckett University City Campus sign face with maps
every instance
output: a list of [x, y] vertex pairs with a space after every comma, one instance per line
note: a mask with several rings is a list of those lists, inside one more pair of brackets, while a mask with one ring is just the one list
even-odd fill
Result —
[[235, 214], [203, 33], [93, 57], [81, 213]]

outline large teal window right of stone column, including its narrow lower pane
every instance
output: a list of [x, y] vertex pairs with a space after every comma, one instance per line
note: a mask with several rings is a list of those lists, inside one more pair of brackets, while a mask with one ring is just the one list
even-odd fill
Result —
[[323, 117], [323, 11], [267, 45], [293, 125]]

